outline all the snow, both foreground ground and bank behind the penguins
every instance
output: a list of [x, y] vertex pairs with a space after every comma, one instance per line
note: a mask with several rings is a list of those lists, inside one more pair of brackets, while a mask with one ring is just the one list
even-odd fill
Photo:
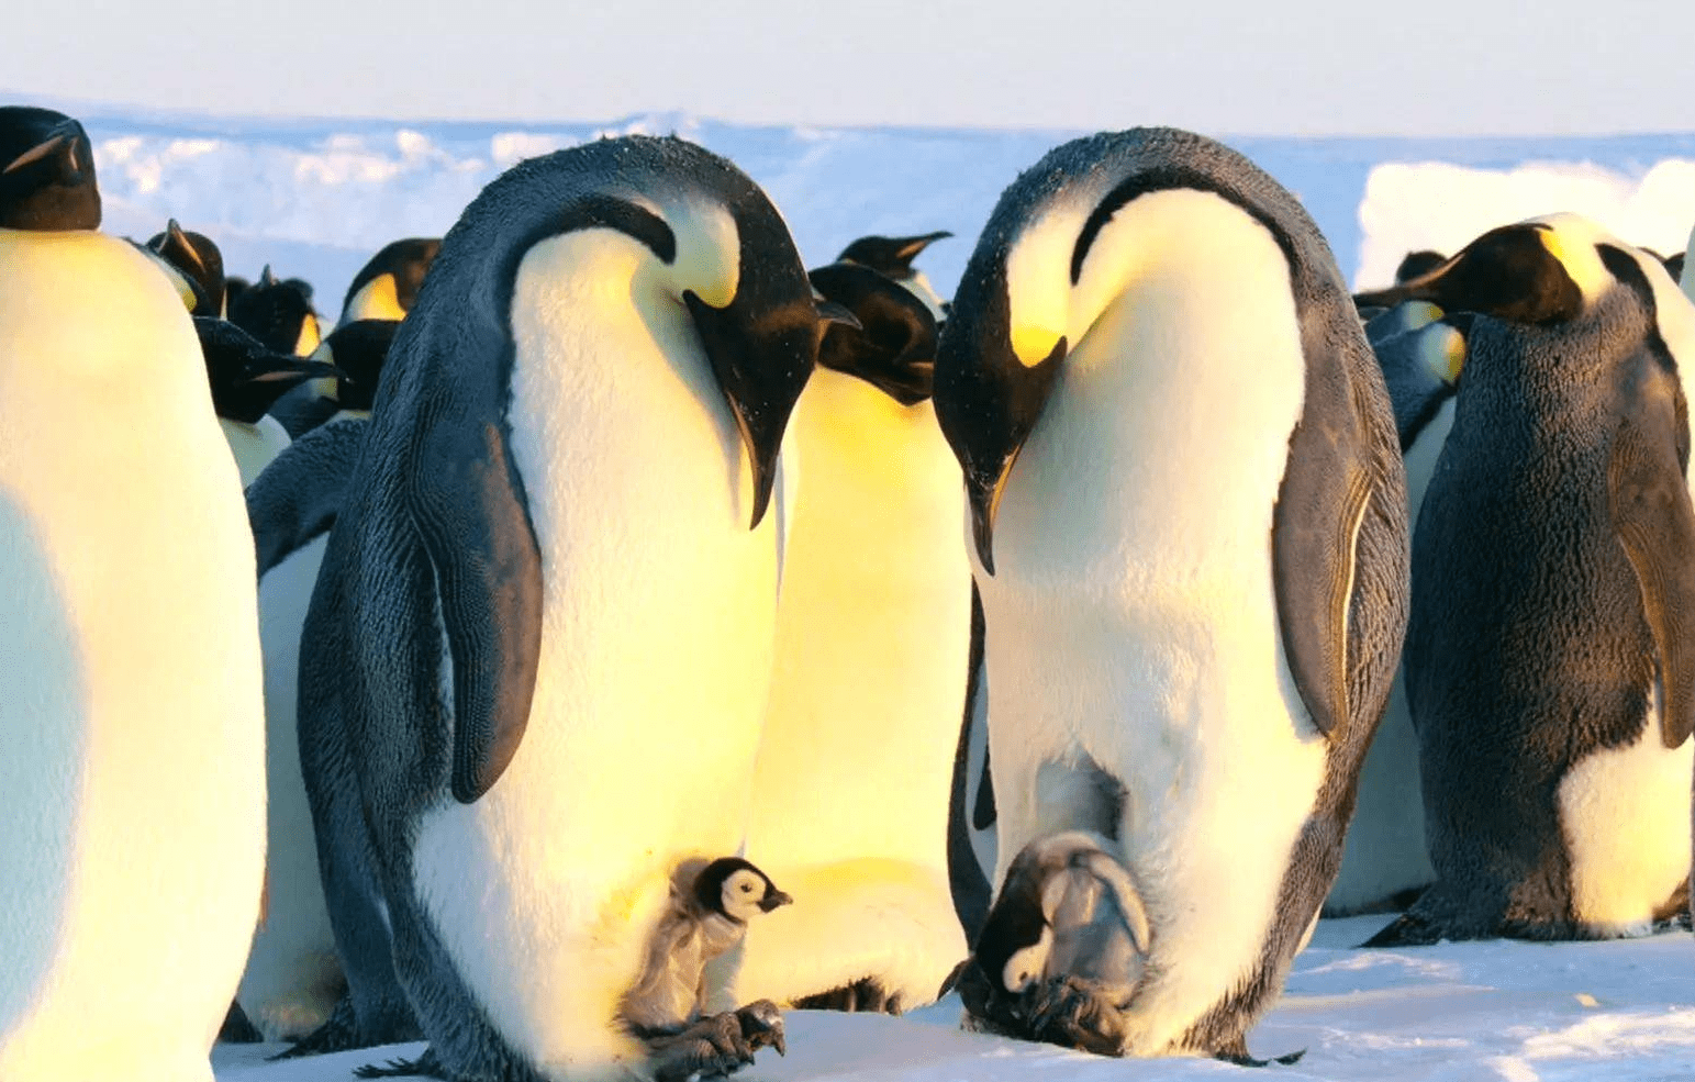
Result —
[[[773, 195], [809, 266], [858, 236], [951, 229], [920, 266], [946, 295], [1002, 188], [1080, 132], [815, 129], [646, 115], [614, 124], [395, 124], [136, 114], [81, 103], [95, 139], [107, 229], [144, 239], [176, 217], [212, 236], [231, 273], [317, 285], [334, 317], [381, 244], [439, 236], [520, 158], [620, 132], [676, 132], [732, 158]], [[1412, 248], [1454, 251], [1492, 226], [1553, 210], [1627, 241], [1681, 251], [1695, 222], [1695, 136], [1588, 139], [1225, 139], [1293, 190], [1354, 285], [1390, 280]], [[1268, 1079], [1690, 1077], [1695, 938], [1464, 943], [1353, 950], [1383, 917], [1325, 921], [1256, 1055], [1307, 1048]], [[1181, 1079], [1239, 1072], [1207, 1060], [1102, 1060], [958, 1029], [958, 1001], [907, 1018], [793, 1012], [790, 1055], [739, 1077]], [[219, 1046], [219, 1082], [341, 1082], [419, 1046], [264, 1062], [278, 1046]]]

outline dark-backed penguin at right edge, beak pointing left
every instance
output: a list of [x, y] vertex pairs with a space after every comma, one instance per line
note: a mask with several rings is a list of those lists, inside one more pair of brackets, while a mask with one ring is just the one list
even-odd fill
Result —
[[1690, 872], [1695, 309], [1573, 215], [1492, 231], [1422, 290], [1466, 276], [1512, 317], [1471, 324], [1414, 539], [1439, 878], [1373, 943], [1639, 934]]

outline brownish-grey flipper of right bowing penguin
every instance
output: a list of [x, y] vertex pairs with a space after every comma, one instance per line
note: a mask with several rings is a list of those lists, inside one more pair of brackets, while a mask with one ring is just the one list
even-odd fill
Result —
[[1407, 473], [1358, 319], [1320, 302], [1300, 305], [1307, 393], [1278, 487], [1271, 577], [1295, 687], [1341, 741], [1353, 722], [1375, 722], [1400, 656]]

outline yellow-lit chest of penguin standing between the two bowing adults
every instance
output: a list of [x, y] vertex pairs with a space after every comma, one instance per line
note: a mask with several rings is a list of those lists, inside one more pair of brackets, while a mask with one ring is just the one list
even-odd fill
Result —
[[959, 466], [927, 402], [829, 370], [788, 439], [802, 477], [749, 851], [939, 865], [971, 621]]

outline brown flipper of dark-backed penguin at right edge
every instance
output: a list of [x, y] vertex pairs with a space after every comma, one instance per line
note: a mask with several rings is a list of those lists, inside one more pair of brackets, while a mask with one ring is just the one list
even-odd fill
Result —
[[1642, 612], [1659, 655], [1661, 734], [1678, 748], [1695, 729], [1695, 509], [1690, 505], [1688, 405], [1656, 358], [1620, 366], [1619, 427], [1607, 465], [1614, 529], [1642, 588]]

